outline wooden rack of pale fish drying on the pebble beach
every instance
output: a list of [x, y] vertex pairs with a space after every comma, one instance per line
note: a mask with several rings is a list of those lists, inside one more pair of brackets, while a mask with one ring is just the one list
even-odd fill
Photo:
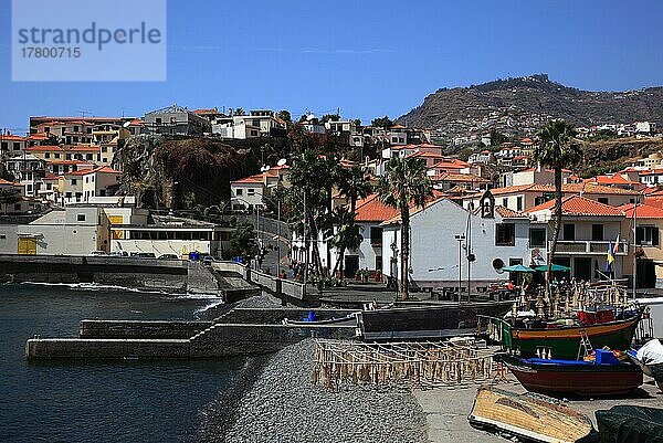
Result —
[[499, 372], [490, 350], [469, 344], [319, 339], [312, 381], [333, 390], [344, 384], [392, 383], [423, 389], [498, 381]]

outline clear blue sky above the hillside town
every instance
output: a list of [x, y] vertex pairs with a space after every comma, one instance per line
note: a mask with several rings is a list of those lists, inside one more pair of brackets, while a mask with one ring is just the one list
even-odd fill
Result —
[[[98, 0], [97, 0], [98, 1]], [[0, 0], [0, 128], [177, 102], [397, 117], [440, 87], [548, 73], [592, 91], [663, 85], [659, 1], [168, 1], [168, 81], [11, 82]]]

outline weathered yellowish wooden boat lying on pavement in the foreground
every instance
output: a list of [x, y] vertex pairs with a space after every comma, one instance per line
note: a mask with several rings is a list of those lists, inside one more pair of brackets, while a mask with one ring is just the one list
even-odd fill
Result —
[[482, 387], [467, 416], [477, 429], [535, 442], [576, 442], [592, 432], [591, 421], [549, 397]]

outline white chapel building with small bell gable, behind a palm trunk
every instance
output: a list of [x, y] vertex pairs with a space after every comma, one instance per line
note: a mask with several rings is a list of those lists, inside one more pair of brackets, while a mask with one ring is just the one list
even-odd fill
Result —
[[[410, 219], [410, 279], [413, 286], [456, 286], [459, 265], [466, 285], [467, 256], [473, 254], [470, 281], [474, 286], [506, 281], [504, 266], [541, 264], [537, 249], [529, 247], [529, 219], [518, 212], [495, 207], [490, 192], [481, 200], [478, 211], [469, 211], [440, 198], [425, 209], [414, 209]], [[400, 215], [382, 224], [382, 273], [400, 277]], [[469, 228], [470, 226], [470, 228]], [[464, 240], [459, 242], [457, 236]], [[545, 244], [545, 236], [544, 236]], [[534, 257], [534, 259], [533, 259]], [[536, 259], [536, 261], [534, 261]]]

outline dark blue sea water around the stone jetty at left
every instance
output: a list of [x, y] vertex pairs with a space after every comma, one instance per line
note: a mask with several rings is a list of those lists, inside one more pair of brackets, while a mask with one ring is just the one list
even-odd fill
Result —
[[190, 320], [218, 303], [112, 286], [0, 285], [0, 442], [210, 440], [210, 404], [248, 359], [32, 363], [24, 347], [34, 335], [75, 337], [84, 318]]

